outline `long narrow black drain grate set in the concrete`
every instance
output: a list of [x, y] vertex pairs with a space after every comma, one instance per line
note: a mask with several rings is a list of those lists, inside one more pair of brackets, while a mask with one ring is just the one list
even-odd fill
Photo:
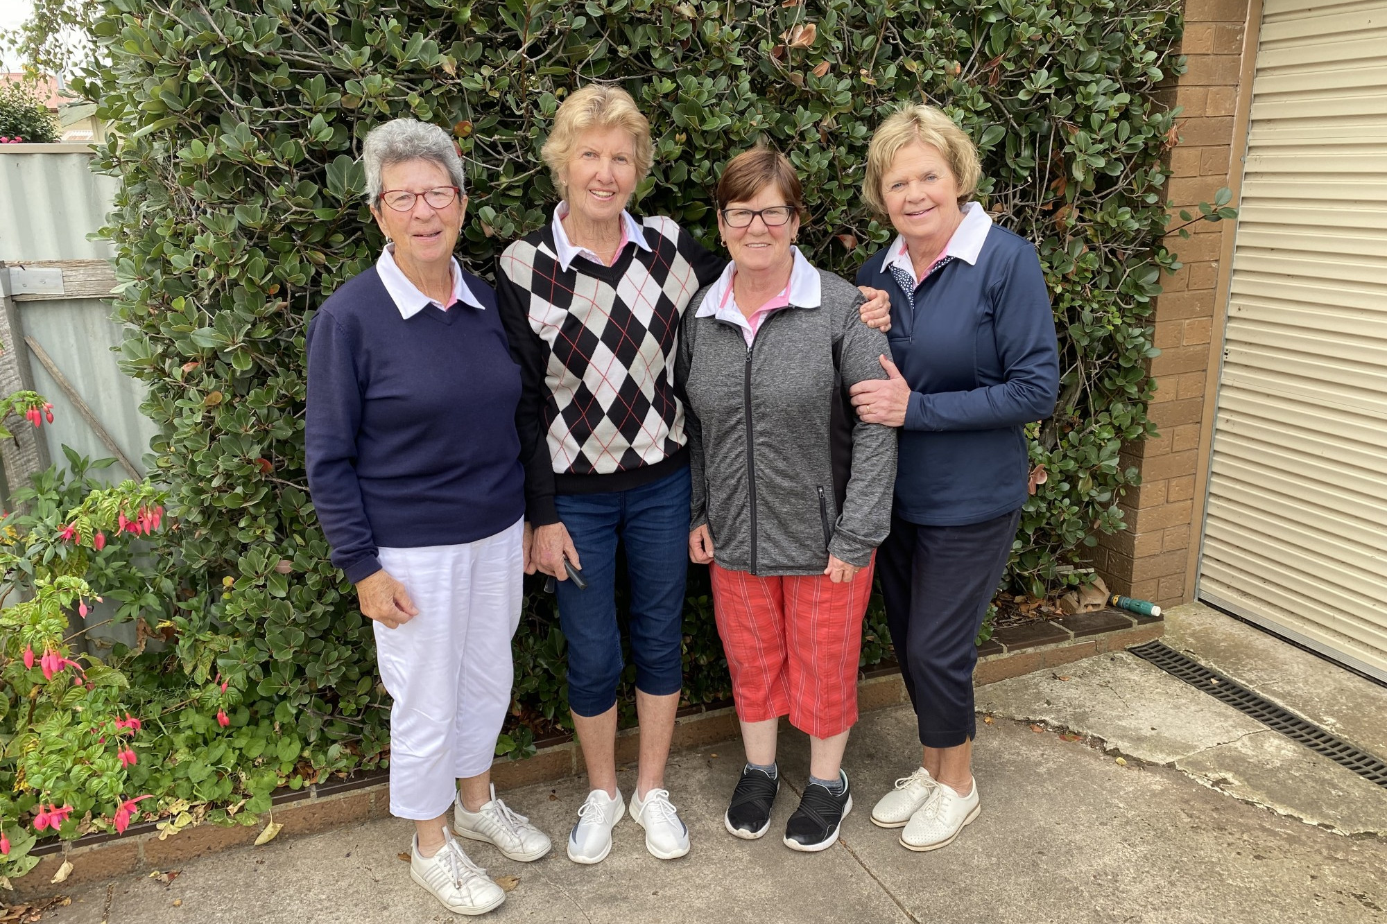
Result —
[[1334, 763], [1348, 767], [1365, 780], [1387, 788], [1387, 763], [1383, 763], [1366, 751], [1355, 748], [1338, 735], [1325, 731], [1315, 723], [1262, 699], [1247, 687], [1229, 680], [1216, 670], [1209, 670], [1200, 662], [1186, 658], [1158, 641], [1136, 645], [1128, 648], [1128, 651], [1137, 658], [1151, 662], [1165, 673], [1179, 677], [1189, 685], [1203, 690], [1215, 699], [1226, 702], [1243, 715], [1257, 719], [1268, 728], [1273, 728], [1287, 738], [1301, 742], [1315, 753], [1322, 753]]

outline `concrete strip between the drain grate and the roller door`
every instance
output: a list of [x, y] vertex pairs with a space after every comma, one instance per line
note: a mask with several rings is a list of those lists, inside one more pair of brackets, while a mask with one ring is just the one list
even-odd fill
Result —
[[1387, 760], [1387, 687], [1204, 604], [1166, 610], [1164, 641]]

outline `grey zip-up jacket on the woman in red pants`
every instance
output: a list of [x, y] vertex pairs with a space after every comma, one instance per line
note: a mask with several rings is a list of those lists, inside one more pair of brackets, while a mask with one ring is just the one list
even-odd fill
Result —
[[847, 388], [886, 377], [886, 336], [852, 283], [796, 251], [791, 305], [748, 347], [720, 297], [731, 272], [689, 302], [675, 362], [691, 529], [707, 523], [717, 563], [752, 574], [820, 574], [829, 554], [865, 566], [890, 530], [896, 430], [860, 422]]

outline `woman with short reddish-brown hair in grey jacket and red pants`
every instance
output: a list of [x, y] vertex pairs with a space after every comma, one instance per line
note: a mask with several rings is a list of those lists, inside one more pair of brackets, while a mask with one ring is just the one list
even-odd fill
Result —
[[857, 289], [793, 246], [806, 209], [784, 154], [734, 157], [717, 208], [732, 262], [694, 297], [675, 379], [688, 394], [689, 555], [712, 562], [748, 760], [723, 823], [766, 834], [788, 715], [810, 737], [810, 776], [784, 842], [822, 850], [853, 805], [841, 764], [896, 474], [896, 431], [859, 420], [845, 388], [885, 379], [886, 339], [859, 318]]

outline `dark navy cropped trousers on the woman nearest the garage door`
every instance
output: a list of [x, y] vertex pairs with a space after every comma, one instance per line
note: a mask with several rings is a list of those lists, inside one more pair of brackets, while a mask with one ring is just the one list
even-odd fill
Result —
[[1019, 523], [1019, 509], [968, 526], [920, 526], [890, 517], [877, 573], [890, 641], [920, 720], [920, 744], [927, 748], [953, 748], [978, 733], [974, 640]]

